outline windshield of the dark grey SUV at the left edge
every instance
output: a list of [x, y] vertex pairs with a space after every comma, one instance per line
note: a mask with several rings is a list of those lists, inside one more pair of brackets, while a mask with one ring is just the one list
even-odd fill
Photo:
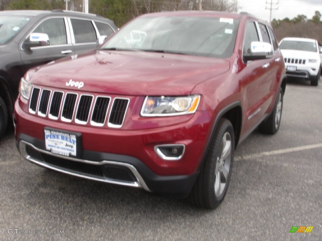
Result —
[[0, 44], [5, 44], [29, 22], [28, 17], [0, 16]]

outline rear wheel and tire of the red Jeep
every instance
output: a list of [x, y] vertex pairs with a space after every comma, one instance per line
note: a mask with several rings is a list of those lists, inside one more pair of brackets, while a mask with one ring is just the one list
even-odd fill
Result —
[[274, 135], [279, 130], [283, 110], [283, 90], [279, 88], [279, 93], [276, 96], [275, 104], [270, 116], [260, 123], [259, 130], [262, 133]]

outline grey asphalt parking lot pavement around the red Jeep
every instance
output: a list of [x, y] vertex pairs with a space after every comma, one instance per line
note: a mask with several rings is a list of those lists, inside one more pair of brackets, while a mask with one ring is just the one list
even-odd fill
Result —
[[[11, 130], [0, 141], [0, 240], [321, 240], [321, 105], [321, 80], [289, 82], [279, 132], [241, 143], [213, 211], [30, 164]], [[289, 233], [293, 226], [313, 229]]]

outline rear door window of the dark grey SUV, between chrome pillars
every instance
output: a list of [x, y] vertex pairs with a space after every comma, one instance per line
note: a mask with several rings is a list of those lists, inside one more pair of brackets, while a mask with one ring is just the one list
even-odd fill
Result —
[[91, 21], [71, 19], [75, 43], [96, 42], [96, 32]]

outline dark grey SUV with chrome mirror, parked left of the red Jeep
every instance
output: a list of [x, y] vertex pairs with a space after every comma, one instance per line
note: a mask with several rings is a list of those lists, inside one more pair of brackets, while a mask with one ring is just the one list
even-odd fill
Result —
[[11, 118], [20, 78], [29, 68], [96, 49], [99, 38], [117, 29], [113, 21], [95, 14], [0, 11], [0, 138]]

